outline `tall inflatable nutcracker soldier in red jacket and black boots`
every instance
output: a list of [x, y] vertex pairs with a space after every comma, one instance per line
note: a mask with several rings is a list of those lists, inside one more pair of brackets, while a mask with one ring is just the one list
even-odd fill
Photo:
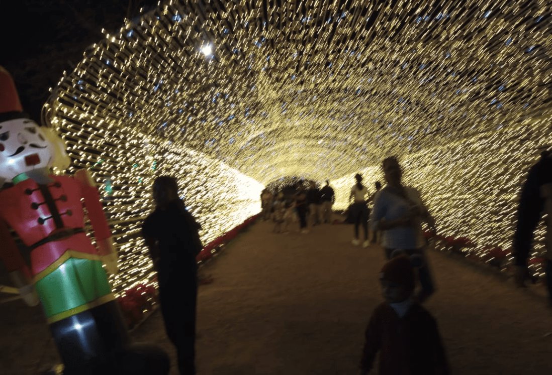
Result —
[[[164, 352], [130, 344], [102, 266], [115, 274], [118, 258], [98, 190], [86, 170], [51, 172], [69, 162], [55, 132], [22, 113], [12, 77], [0, 67], [0, 259], [24, 301], [40, 300], [64, 374], [167, 373]], [[9, 229], [30, 251], [30, 264]]]

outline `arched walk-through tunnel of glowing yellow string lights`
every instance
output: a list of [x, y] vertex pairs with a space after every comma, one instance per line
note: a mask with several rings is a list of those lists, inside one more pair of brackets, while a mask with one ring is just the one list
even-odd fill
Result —
[[354, 174], [371, 189], [395, 155], [440, 233], [507, 250], [524, 176], [550, 144], [550, 13], [549, 1], [161, 2], [84, 51], [43, 120], [68, 172], [98, 182], [119, 292], [153, 280], [140, 225], [162, 174], [209, 242], [278, 179], [330, 179], [346, 208]]

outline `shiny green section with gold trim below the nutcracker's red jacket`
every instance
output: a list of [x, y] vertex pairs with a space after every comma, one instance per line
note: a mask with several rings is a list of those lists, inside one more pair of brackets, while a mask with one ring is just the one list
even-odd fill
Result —
[[115, 299], [100, 260], [69, 258], [35, 288], [49, 323]]

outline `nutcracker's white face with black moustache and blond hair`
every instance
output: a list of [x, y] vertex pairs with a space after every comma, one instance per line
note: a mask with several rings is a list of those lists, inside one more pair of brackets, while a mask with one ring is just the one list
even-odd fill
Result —
[[60, 167], [55, 165], [56, 159], [65, 151], [56, 138], [49, 128], [39, 127], [33, 120], [0, 122], [0, 180], [10, 181], [33, 169]]

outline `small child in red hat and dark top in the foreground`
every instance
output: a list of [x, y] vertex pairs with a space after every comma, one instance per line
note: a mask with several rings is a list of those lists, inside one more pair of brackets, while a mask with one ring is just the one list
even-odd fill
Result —
[[360, 373], [368, 374], [377, 352], [380, 375], [449, 374], [435, 319], [413, 301], [415, 275], [410, 258], [397, 256], [380, 273], [385, 302], [372, 314], [365, 333]]

